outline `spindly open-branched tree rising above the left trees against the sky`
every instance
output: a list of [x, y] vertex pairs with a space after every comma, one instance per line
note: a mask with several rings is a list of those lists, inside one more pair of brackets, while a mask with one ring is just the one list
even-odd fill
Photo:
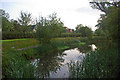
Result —
[[20, 18], [18, 18], [18, 22], [20, 23], [21, 30], [23, 32], [27, 32], [30, 30], [30, 23], [32, 21], [32, 15], [31, 13], [27, 13], [27, 12], [22, 12], [20, 13]]

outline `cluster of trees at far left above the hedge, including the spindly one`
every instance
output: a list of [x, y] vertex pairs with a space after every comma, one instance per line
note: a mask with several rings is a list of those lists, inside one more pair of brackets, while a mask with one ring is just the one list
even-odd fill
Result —
[[21, 12], [20, 18], [17, 20], [9, 19], [9, 14], [0, 9], [2, 15], [2, 31], [4, 32], [32, 32], [31, 21], [32, 17], [30, 13]]

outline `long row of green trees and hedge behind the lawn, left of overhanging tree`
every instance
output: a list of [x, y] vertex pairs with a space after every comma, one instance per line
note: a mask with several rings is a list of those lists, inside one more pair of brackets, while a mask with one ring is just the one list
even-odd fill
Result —
[[46, 17], [33, 20], [31, 13], [21, 11], [20, 17], [14, 20], [9, 19], [9, 14], [4, 10], [0, 9], [0, 12], [2, 39], [35, 38], [37, 34], [41, 37], [92, 37], [92, 30], [82, 24], [77, 25], [76, 30], [70, 29], [69, 32], [56, 13], [49, 15], [49, 20]]

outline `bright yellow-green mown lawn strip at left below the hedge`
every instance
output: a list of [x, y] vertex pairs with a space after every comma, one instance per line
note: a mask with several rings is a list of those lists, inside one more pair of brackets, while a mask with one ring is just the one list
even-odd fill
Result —
[[2, 40], [2, 51], [4, 52], [12, 47], [14, 47], [14, 49], [20, 49], [36, 45], [38, 45], [38, 41], [33, 38]]

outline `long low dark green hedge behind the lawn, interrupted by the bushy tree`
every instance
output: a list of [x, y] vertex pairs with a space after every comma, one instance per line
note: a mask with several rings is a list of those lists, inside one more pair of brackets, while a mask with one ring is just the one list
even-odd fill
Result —
[[[80, 37], [80, 33], [61, 33], [55, 37]], [[2, 40], [5, 39], [20, 39], [20, 38], [35, 38], [35, 33], [20, 33], [20, 32], [2, 32]]]

